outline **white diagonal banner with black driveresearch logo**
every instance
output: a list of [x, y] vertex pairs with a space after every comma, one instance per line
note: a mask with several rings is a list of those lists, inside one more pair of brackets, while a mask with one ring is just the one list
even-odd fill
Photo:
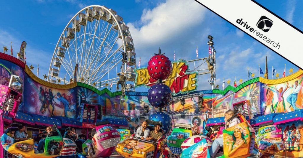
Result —
[[251, 0], [195, 0], [303, 68], [303, 32]]

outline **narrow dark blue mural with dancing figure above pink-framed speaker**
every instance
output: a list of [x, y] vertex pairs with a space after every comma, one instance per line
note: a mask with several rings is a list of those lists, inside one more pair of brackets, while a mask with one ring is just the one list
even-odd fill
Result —
[[[100, 96], [83, 87], [78, 87], [76, 92], [76, 102], [77, 102], [77, 118], [82, 118], [81, 111], [83, 111], [83, 107], [81, 104], [92, 104], [92, 105], [100, 105]], [[100, 111], [99, 111], [100, 112]], [[100, 114], [97, 114], [97, 116]]]

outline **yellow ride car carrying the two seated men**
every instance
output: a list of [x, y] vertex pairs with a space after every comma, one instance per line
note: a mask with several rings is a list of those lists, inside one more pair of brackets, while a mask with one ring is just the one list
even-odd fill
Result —
[[[156, 124], [162, 123], [153, 120], [145, 120], [148, 123], [148, 128], [153, 130]], [[161, 132], [163, 130], [161, 129]], [[125, 158], [158, 158], [163, 153], [166, 147], [165, 136], [162, 136], [157, 141], [152, 140], [141, 140], [135, 138], [135, 134], [132, 137], [126, 137], [116, 146], [116, 151]]]

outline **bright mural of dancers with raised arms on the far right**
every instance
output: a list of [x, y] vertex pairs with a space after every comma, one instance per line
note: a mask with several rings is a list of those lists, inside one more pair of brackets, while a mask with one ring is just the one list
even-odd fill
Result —
[[275, 85], [261, 83], [261, 111], [270, 114], [302, 109], [302, 76]]

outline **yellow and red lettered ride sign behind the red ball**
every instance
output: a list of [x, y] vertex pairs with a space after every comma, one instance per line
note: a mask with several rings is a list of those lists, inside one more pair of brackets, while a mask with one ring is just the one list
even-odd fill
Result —
[[[187, 72], [189, 70], [188, 64], [183, 60], [178, 60], [171, 64], [171, 75], [168, 76], [167, 79], [163, 80], [163, 83], [170, 87], [172, 95], [195, 91], [198, 86], [198, 72]], [[134, 71], [136, 74], [135, 87], [145, 86], [149, 88], [157, 82], [157, 80], [152, 79], [149, 76], [147, 67], [134, 69]]]

